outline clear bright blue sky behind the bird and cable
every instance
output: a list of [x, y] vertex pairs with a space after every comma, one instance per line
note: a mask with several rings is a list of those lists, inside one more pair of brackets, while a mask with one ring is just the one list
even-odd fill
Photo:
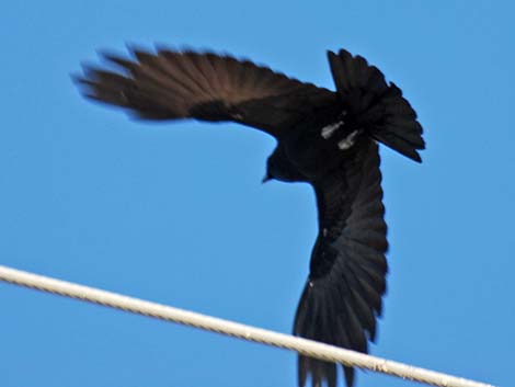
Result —
[[[225, 50], [333, 88], [365, 56], [425, 128], [382, 148], [391, 249], [371, 353], [515, 384], [515, 8], [510, 1], [4, 1], [0, 263], [290, 332], [317, 223], [302, 184], [262, 185], [274, 140], [145, 124], [69, 75], [126, 42]], [[296, 355], [0, 284], [0, 385], [296, 386]], [[359, 373], [357, 386], [415, 386]]]

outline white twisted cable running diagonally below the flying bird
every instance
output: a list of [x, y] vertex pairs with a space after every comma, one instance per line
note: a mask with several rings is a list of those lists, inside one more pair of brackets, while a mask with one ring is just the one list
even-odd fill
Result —
[[301, 353], [306, 356], [311, 356], [329, 362], [343, 363], [348, 366], [380, 372], [433, 386], [493, 387], [492, 385], [440, 374], [434, 371], [419, 368], [386, 358], [375, 357], [363, 353], [344, 350], [337, 346], [327, 345], [316, 341], [293, 337], [289, 334], [254, 328], [238, 322], [196, 314], [193, 311], [182, 310], [165, 305], [96, 289], [89, 286], [32, 274], [2, 265], [0, 265], [0, 281], [43, 292], [54, 293], [66, 297], [77, 298], [89, 303], [100, 304], [138, 315], [149, 316], [161, 320], [173, 321], [185, 326], [228, 334], [243, 340], [297, 351], [298, 353]]

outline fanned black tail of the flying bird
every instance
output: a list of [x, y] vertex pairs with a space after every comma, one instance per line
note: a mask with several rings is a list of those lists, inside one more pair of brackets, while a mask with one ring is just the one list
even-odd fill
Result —
[[356, 124], [376, 140], [421, 162], [417, 152], [425, 148], [416, 113], [402, 98], [402, 91], [365, 58], [341, 49], [328, 52], [329, 64], [345, 110]]

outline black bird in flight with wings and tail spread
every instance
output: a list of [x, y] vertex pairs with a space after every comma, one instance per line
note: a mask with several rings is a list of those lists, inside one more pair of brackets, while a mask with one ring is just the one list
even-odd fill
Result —
[[[90, 99], [144, 119], [232, 121], [277, 139], [264, 181], [310, 183], [319, 234], [294, 333], [367, 352], [386, 291], [388, 249], [376, 141], [421, 161], [422, 126], [384, 75], [360, 56], [328, 52], [336, 91], [227, 55], [133, 49], [76, 77]], [[354, 369], [343, 367], [347, 386]], [[336, 366], [299, 355], [299, 385], [336, 385]]]

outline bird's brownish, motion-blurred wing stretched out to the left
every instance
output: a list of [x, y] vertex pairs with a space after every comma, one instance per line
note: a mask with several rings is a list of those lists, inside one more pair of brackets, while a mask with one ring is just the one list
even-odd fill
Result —
[[275, 137], [337, 103], [330, 90], [230, 56], [170, 49], [131, 54], [134, 60], [103, 54], [105, 66], [84, 66], [84, 75], [75, 77], [84, 95], [140, 118], [234, 121]]

